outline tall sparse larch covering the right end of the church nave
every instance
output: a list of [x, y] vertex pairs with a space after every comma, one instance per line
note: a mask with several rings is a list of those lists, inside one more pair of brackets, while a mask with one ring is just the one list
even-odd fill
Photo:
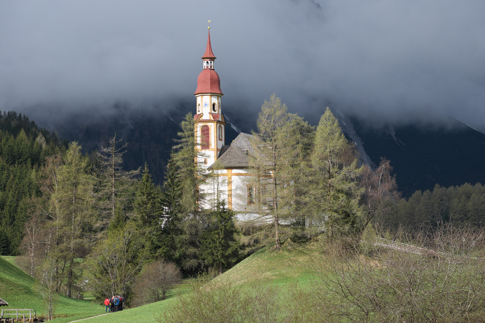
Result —
[[300, 187], [298, 169], [308, 146], [306, 136], [311, 133], [306, 122], [287, 110], [275, 94], [261, 106], [250, 159], [255, 176], [248, 185], [254, 190], [254, 211], [259, 214], [254, 222], [274, 230], [277, 250], [281, 248], [280, 221], [293, 218], [292, 205]]

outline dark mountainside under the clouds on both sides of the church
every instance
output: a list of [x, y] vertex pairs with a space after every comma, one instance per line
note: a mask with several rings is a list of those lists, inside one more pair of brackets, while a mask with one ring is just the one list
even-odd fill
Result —
[[[78, 141], [87, 153], [106, 146], [116, 133], [128, 143], [126, 169], [136, 169], [148, 163], [156, 184], [163, 181], [166, 161], [179, 131], [179, 123], [191, 111], [192, 104], [181, 102], [177, 107], [152, 106], [130, 108], [117, 104], [111, 113], [88, 120], [73, 115], [58, 122], [52, 130], [68, 140]], [[237, 109], [236, 109], [237, 110]], [[238, 110], [237, 110], [238, 111]], [[391, 161], [397, 183], [404, 197], [416, 190], [431, 190], [441, 186], [464, 183], [485, 184], [485, 135], [449, 117], [445, 125], [433, 123], [376, 125], [356, 116], [343, 116], [334, 109], [347, 137], [354, 141], [361, 161], [375, 167], [381, 157]], [[226, 144], [251, 125], [256, 115], [227, 116], [234, 123], [226, 125]], [[446, 118], [445, 118], [446, 119]], [[317, 120], [317, 119], [315, 119]]]

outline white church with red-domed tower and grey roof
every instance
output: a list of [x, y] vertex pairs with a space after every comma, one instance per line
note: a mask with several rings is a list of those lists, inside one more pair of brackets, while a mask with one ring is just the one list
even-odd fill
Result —
[[255, 188], [251, 184], [250, 154], [253, 150], [250, 134], [240, 133], [229, 145], [225, 141], [222, 111], [221, 79], [214, 69], [216, 57], [210, 45], [202, 56], [203, 67], [195, 90], [194, 137], [196, 163], [207, 177], [199, 190], [204, 196], [201, 208], [210, 209], [218, 201], [237, 212], [240, 220], [255, 214]]

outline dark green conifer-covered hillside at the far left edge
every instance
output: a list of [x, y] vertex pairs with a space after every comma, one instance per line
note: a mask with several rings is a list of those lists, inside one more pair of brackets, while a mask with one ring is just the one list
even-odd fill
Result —
[[0, 111], [0, 255], [17, 255], [46, 158], [67, 143], [26, 115]]

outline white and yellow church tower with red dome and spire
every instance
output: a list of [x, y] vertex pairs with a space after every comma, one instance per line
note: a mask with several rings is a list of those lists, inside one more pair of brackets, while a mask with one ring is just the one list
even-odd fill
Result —
[[194, 132], [197, 140], [198, 163], [204, 168], [212, 165], [224, 146], [225, 125], [222, 115], [221, 80], [214, 71], [215, 56], [210, 46], [210, 30], [207, 37], [207, 47], [202, 56], [203, 67], [197, 77], [195, 90]]

